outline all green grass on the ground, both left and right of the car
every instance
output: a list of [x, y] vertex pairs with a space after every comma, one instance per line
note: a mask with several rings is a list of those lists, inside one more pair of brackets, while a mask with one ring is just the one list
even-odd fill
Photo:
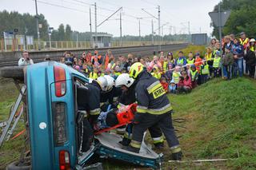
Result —
[[[7, 117], [17, 91], [13, 83], [1, 84], [0, 121]], [[190, 94], [169, 94], [174, 107], [174, 118], [184, 118], [182, 124], [174, 123], [183, 160], [238, 158], [219, 163], [173, 164], [168, 163], [170, 152], [166, 147], [163, 169], [255, 169], [256, 168], [256, 82], [246, 77], [231, 81], [214, 79], [194, 89]], [[186, 128], [179, 128], [178, 125]], [[21, 131], [22, 128], [16, 130]], [[23, 138], [6, 142], [0, 150], [0, 169], [18, 157]], [[166, 144], [167, 145], [167, 144]], [[239, 156], [239, 157], [238, 157]], [[114, 160], [104, 160], [106, 169], [136, 168]]]

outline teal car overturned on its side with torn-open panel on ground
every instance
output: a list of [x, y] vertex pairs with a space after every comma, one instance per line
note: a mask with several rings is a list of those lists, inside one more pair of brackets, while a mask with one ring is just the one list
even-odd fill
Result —
[[[86, 84], [89, 80], [71, 67], [46, 61], [25, 68], [4, 67], [0, 76], [22, 82], [20, 93], [30, 146], [30, 152], [7, 169], [83, 169], [94, 154], [150, 168], [158, 168], [161, 163], [162, 154], [145, 143], [139, 153], [126, 151], [119, 144], [122, 136], [107, 130], [94, 134], [86, 152], [81, 152], [76, 82]], [[90, 132], [82, 133], [90, 137]]]

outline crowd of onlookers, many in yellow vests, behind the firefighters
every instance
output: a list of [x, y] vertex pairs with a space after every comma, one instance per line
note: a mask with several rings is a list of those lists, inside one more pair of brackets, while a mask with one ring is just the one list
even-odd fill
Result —
[[134, 57], [131, 53], [127, 57], [114, 57], [109, 49], [104, 55], [95, 50], [94, 53], [84, 52], [81, 57], [66, 52], [60, 62], [71, 65], [91, 79], [103, 75], [116, 79], [118, 75], [128, 73], [133, 63], [140, 62], [153, 77], [160, 80], [167, 93], [190, 93], [213, 77], [223, 77], [226, 80], [242, 77], [244, 60], [245, 73], [249, 72], [249, 76], [254, 77], [255, 39], [246, 38], [246, 34], [242, 32], [240, 38], [234, 38], [233, 34], [226, 35], [222, 45], [213, 38], [206, 47], [206, 53], [190, 52], [187, 57], [182, 51], [177, 57], [171, 52], [161, 52], [151, 60], [150, 57]]

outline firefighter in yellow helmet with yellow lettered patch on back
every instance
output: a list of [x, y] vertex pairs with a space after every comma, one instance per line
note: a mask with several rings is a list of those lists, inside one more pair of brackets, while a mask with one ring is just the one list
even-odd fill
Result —
[[135, 93], [138, 106], [137, 113], [134, 115], [133, 136], [127, 150], [139, 152], [143, 133], [147, 128], [159, 125], [166, 136], [172, 159], [181, 160], [182, 149], [172, 124], [172, 107], [160, 81], [152, 77], [140, 62], [130, 67], [129, 75], [137, 81]]

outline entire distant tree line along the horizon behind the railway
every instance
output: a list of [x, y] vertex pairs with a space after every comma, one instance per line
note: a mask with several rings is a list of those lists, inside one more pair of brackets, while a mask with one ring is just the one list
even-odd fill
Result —
[[[49, 41], [48, 27], [49, 23], [43, 14], [38, 15], [38, 23], [42, 25], [39, 28], [40, 39], [43, 41]], [[32, 35], [34, 39], [38, 38], [36, 16], [31, 14], [19, 14], [16, 11], [8, 12], [6, 10], [0, 11], [0, 38], [3, 37], [3, 32], [14, 31], [18, 29], [18, 33], [22, 35]], [[92, 33], [94, 34], [94, 33]], [[104, 33], [99, 33], [104, 34]], [[106, 33], [105, 33], [106, 34]], [[90, 32], [78, 32], [71, 29], [71, 26], [66, 24], [60, 24], [58, 28], [54, 28], [51, 33], [52, 41], [66, 41], [66, 42], [90, 42]], [[162, 41], [184, 41], [187, 38], [187, 34], [165, 35], [162, 36]], [[160, 37], [154, 35], [154, 41], [159, 41]], [[112, 38], [114, 41], [119, 41], [120, 38]], [[122, 41], [151, 41], [152, 34], [142, 36], [125, 35], [122, 37]]]

